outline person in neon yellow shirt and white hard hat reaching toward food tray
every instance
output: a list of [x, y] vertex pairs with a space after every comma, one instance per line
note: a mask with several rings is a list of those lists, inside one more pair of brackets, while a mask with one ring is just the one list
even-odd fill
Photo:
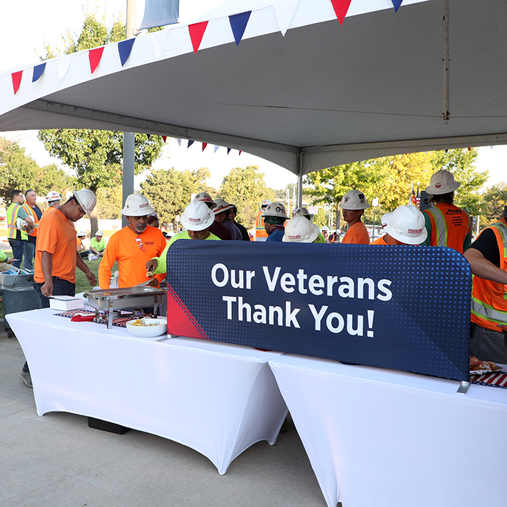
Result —
[[[218, 240], [220, 238], [210, 233], [210, 227], [215, 221], [215, 213], [203, 201], [194, 199], [181, 213], [181, 225], [187, 229], [175, 234], [168, 242], [160, 256], [153, 257], [146, 263], [147, 276], [164, 276], [167, 272], [167, 251], [177, 240]], [[108, 247], [109, 248], [109, 247]]]

